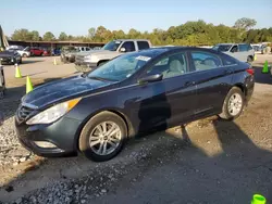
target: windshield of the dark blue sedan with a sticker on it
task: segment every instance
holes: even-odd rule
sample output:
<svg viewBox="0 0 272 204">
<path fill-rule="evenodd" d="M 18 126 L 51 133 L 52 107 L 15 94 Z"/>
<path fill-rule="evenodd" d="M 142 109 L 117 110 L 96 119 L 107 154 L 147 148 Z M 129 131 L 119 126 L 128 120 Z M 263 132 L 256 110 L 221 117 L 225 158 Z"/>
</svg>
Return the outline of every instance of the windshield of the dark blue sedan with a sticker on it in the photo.
<svg viewBox="0 0 272 204">
<path fill-rule="evenodd" d="M 118 56 L 88 74 L 88 78 L 122 81 L 140 69 L 160 52 L 136 52 Z"/>
</svg>

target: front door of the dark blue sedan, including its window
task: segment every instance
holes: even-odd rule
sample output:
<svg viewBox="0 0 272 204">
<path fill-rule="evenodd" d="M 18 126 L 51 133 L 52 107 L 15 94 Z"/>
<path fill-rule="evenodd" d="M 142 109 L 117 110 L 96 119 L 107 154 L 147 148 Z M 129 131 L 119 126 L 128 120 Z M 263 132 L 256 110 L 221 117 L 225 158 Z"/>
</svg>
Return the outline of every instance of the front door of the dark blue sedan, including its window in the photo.
<svg viewBox="0 0 272 204">
<path fill-rule="evenodd" d="M 185 53 L 168 55 L 139 77 L 162 74 L 162 80 L 137 85 L 128 90 L 137 95 L 129 110 L 134 117 L 138 116 L 139 131 L 158 126 L 169 128 L 193 117 L 197 102 L 196 86 L 187 71 Z"/>
</svg>

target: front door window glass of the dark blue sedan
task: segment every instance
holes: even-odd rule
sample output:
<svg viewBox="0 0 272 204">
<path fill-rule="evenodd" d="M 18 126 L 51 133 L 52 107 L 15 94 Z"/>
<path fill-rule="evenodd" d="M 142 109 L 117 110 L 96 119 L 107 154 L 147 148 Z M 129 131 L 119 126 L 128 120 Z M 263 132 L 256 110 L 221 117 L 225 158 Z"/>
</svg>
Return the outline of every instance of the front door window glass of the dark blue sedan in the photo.
<svg viewBox="0 0 272 204">
<path fill-rule="evenodd" d="M 187 62 L 184 53 L 162 58 L 147 71 L 147 75 L 162 74 L 163 78 L 183 75 L 187 72 Z"/>
</svg>

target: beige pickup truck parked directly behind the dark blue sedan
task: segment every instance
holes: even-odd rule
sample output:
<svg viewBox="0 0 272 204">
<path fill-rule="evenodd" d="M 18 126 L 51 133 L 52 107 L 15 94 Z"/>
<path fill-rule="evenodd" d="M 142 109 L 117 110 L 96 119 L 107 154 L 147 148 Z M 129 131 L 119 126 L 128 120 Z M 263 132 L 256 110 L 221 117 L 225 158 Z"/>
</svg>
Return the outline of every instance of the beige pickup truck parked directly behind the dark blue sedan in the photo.
<svg viewBox="0 0 272 204">
<path fill-rule="evenodd" d="M 151 43 L 149 40 L 113 40 L 107 43 L 101 50 L 76 54 L 75 68 L 79 72 L 89 72 L 121 54 L 149 49 L 150 47 Z"/>
</svg>

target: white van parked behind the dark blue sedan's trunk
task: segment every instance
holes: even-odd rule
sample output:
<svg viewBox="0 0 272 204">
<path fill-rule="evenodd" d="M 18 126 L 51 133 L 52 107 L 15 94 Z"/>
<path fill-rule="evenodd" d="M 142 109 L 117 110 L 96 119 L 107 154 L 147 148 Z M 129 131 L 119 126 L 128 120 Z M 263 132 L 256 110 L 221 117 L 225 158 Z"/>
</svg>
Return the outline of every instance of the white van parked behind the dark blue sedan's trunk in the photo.
<svg viewBox="0 0 272 204">
<path fill-rule="evenodd" d="M 255 50 L 248 43 L 219 43 L 212 49 L 224 52 L 242 62 L 251 63 L 255 60 Z"/>
</svg>

